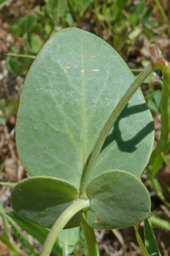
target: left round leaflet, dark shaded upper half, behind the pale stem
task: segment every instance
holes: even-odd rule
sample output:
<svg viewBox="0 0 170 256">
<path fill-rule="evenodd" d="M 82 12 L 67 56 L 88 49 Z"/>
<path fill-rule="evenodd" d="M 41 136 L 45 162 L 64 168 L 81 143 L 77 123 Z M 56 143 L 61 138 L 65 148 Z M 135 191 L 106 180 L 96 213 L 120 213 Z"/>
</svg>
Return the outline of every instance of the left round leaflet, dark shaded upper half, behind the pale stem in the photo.
<svg viewBox="0 0 170 256">
<path fill-rule="evenodd" d="M 15 186 L 11 200 L 18 215 L 51 228 L 77 197 L 77 188 L 67 181 L 54 177 L 30 177 Z M 80 225 L 81 215 L 75 215 L 71 221 L 70 228 Z"/>
</svg>

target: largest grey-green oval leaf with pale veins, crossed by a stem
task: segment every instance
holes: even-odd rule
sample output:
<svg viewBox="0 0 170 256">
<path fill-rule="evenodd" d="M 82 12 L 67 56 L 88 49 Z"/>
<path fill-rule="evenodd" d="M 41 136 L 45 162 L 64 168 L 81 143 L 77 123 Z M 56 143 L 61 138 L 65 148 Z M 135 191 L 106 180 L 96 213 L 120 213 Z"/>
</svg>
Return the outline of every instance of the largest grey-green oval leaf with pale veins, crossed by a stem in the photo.
<svg viewBox="0 0 170 256">
<path fill-rule="evenodd" d="M 78 188 L 103 124 L 133 80 L 118 53 L 91 33 L 68 28 L 49 39 L 27 74 L 17 115 L 17 149 L 27 172 Z M 106 169 L 139 175 L 153 148 L 151 120 L 138 90 L 93 176 Z"/>
</svg>

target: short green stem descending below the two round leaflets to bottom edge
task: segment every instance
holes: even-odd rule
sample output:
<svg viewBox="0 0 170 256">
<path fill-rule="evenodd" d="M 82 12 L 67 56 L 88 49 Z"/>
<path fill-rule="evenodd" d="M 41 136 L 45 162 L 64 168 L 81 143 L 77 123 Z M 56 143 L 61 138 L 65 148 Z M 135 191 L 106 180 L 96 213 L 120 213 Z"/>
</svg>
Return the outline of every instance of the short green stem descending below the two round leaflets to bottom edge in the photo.
<svg viewBox="0 0 170 256">
<path fill-rule="evenodd" d="M 83 225 L 83 230 L 85 232 L 85 239 L 88 244 L 89 256 L 100 256 L 98 252 L 98 244 L 95 239 L 95 232 L 93 228 L 90 228 L 88 223 L 85 223 L 85 225 Z"/>
</svg>

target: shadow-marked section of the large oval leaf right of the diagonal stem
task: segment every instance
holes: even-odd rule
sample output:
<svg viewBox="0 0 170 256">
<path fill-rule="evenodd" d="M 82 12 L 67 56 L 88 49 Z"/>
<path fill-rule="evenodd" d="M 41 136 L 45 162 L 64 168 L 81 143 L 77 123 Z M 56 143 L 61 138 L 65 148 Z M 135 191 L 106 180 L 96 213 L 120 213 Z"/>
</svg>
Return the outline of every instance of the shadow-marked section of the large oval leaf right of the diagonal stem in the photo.
<svg viewBox="0 0 170 256">
<path fill-rule="evenodd" d="M 92 177 L 109 169 L 122 169 L 140 176 L 150 158 L 153 129 L 145 103 L 134 106 L 130 102 L 107 137 Z"/>
</svg>

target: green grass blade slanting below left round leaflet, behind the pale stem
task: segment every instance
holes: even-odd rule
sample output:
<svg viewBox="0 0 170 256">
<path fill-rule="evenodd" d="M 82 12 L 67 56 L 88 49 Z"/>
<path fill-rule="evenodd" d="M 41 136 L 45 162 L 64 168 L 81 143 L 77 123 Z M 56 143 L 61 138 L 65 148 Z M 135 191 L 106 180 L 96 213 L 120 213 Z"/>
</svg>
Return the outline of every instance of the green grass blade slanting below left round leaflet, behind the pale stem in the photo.
<svg viewBox="0 0 170 256">
<path fill-rule="evenodd" d="M 14 211 L 7 211 L 5 212 L 5 215 L 12 217 L 14 222 L 17 223 L 17 225 L 20 225 L 22 230 L 29 233 L 31 236 L 37 239 L 41 244 L 44 244 L 49 232 L 46 228 L 43 228 L 40 225 L 37 225 L 28 220 L 25 220 L 24 218 L 17 215 L 17 213 L 15 213 Z M 61 248 L 59 247 L 58 241 L 56 241 L 56 243 L 54 244 L 53 252 L 56 253 L 57 255 L 61 255 Z"/>
</svg>

